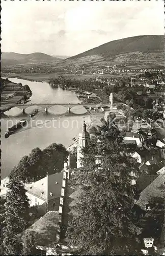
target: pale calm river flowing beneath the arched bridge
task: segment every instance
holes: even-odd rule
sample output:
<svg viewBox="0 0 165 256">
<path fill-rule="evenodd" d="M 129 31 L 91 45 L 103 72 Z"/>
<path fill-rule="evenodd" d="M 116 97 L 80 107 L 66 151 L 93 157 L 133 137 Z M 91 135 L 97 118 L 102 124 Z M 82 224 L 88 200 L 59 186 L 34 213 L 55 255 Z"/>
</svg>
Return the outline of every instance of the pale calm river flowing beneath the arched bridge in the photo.
<svg viewBox="0 0 165 256">
<path fill-rule="evenodd" d="M 32 82 L 23 79 L 9 78 L 10 81 L 22 85 L 28 84 L 33 95 L 30 103 L 80 103 L 76 94 L 72 91 L 61 88 L 52 88 L 46 82 Z M 39 112 L 31 119 L 29 113 L 34 109 Z M 17 165 L 22 156 L 31 153 L 35 147 L 41 150 L 51 143 L 62 143 L 69 146 L 73 138 L 78 138 L 81 125 L 85 116 L 87 127 L 90 125 L 90 116 L 83 106 L 74 106 L 71 113 L 66 113 L 64 106 L 52 106 L 48 113 L 44 112 L 40 106 L 29 106 L 25 114 L 18 108 L 12 108 L 5 112 L 5 117 L 1 119 L 1 178 L 9 175 L 13 166 Z M 17 131 L 9 138 L 5 139 L 4 133 L 7 127 L 15 124 L 21 118 L 27 119 L 28 126 Z"/>
</svg>

